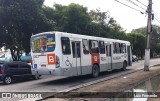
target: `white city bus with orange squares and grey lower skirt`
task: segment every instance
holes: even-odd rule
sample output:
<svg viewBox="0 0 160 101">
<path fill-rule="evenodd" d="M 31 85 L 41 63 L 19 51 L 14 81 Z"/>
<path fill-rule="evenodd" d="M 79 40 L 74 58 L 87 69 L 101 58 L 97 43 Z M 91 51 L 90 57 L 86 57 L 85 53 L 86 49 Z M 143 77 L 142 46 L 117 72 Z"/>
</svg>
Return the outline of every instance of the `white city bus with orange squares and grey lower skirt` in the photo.
<svg viewBox="0 0 160 101">
<path fill-rule="evenodd" d="M 40 75 L 79 76 L 132 64 L 128 41 L 66 32 L 43 32 L 31 37 L 33 68 Z"/>
</svg>

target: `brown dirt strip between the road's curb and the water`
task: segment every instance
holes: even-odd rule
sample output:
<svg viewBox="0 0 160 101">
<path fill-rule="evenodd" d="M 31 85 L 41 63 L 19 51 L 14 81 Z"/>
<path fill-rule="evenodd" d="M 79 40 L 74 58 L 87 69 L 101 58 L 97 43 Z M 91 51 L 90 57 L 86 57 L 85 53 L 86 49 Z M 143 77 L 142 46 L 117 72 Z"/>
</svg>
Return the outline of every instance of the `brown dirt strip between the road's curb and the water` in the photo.
<svg viewBox="0 0 160 101">
<path fill-rule="evenodd" d="M 160 74 L 160 66 L 154 66 L 150 68 L 150 71 L 137 71 L 131 74 L 127 74 L 124 76 L 120 76 L 111 80 L 103 81 L 97 84 L 93 84 L 90 86 L 86 86 L 83 88 L 79 88 L 73 90 L 72 92 L 123 92 L 125 90 L 131 89 L 133 86 L 137 85 L 138 83 L 145 81 L 155 75 Z M 68 96 L 66 94 L 66 96 Z M 115 101 L 115 100 L 104 100 L 97 98 L 97 99 L 89 99 L 86 100 L 85 98 L 48 98 L 45 101 Z M 116 101 L 123 101 L 123 100 L 116 100 Z M 132 100 L 127 100 L 132 101 Z M 160 98 L 149 98 L 147 101 L 160 101 Z"/>
</svg>

